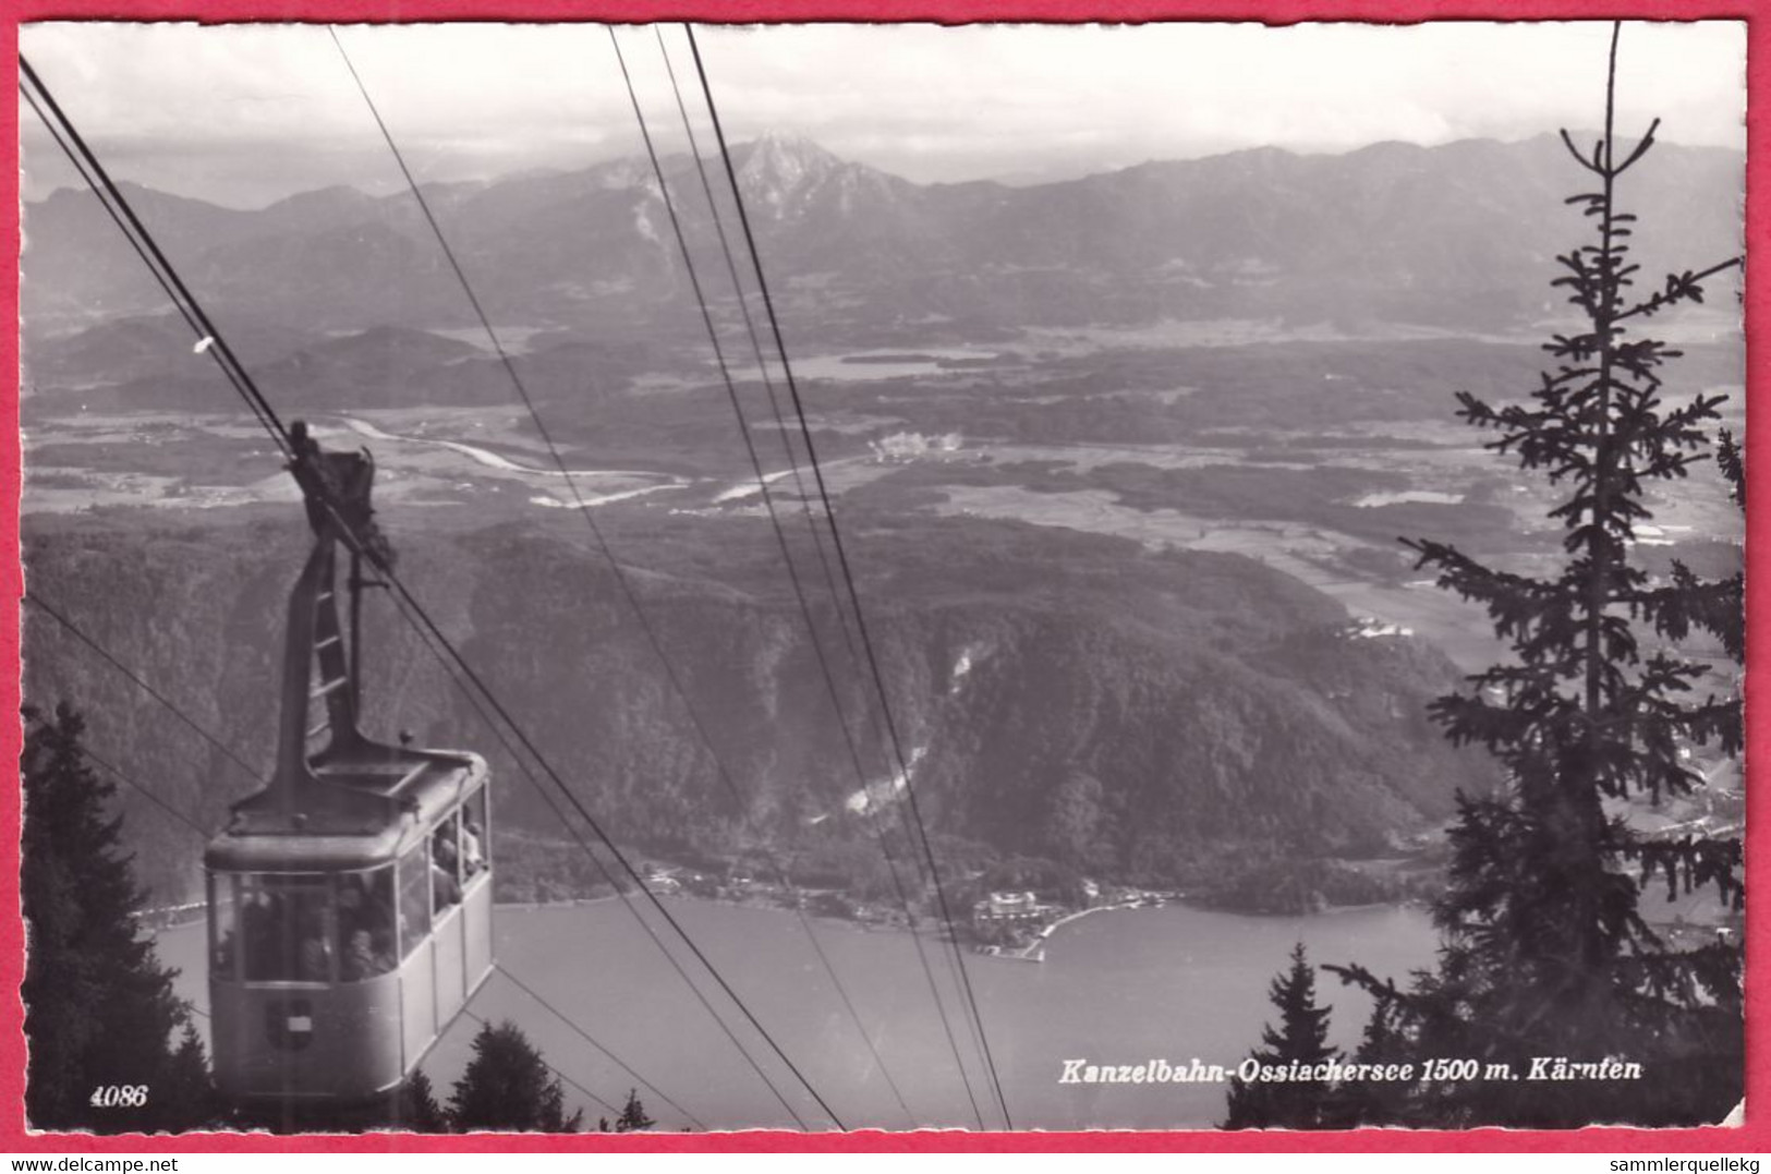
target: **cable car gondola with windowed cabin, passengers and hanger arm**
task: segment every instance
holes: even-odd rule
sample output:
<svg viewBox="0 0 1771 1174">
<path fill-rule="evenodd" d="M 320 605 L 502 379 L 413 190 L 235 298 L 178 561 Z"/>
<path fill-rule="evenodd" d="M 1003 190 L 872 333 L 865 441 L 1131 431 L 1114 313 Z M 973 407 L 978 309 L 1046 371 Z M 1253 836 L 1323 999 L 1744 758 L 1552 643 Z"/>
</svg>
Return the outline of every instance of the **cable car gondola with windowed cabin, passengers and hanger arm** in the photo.
<svg viewBox="0 0 1771 1174">
<path fill-rule="evenodd" d="M 299 423 L 290 441 L 315 538 L 289 595 L 276 770 L 204 855 L 216 1084 L 285 1108 L 393 1093 L 492 970 L 485 760 L 358 730 L 361 591 L 379 586 L 363 563 L 391 563 L 374 464 Z"/>
</svg>

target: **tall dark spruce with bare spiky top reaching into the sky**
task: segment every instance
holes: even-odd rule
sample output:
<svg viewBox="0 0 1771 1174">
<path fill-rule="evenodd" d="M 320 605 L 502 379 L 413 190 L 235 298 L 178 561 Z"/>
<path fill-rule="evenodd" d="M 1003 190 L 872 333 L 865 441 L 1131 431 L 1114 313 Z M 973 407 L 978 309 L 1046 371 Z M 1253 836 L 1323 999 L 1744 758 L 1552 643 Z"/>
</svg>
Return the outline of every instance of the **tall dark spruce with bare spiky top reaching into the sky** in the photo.
<svg viewBox="0 0 1771 1174">
<path fill-rule="evenodd" d="M 1481 604 L 1512 659 L 1440 698 L 1435 719 L 1509 772 L 1493 797 L 1461 797 L 1452 829 L 1443 935 L 1435 972 L 1401 990 L 1362 967 L 1342 976 L 1378 999 L 1374 1052 L 1394 1059 L 1468 1057 L 1518 1078 L 1426 1080 L 1365 1121 L 1578 1126 L 1596 1121 L 1695 1124 L 1721 1119 L 1741 1091 L 1741 953 L 1714 942 L 1679 949 L 1643 917 L 1643 892 L 1714 887 L 1741 907 L 1741 843 L 1647 839 L 1629 802 L 1691 793 L 1688 751 L 1741 747 L 1737 696 L 1693 698 L 1705 666 L 1674 643 L 1693 627 L 1739 648 L 1739 581 L 1700 581 L 1675 567 L 1659 581 L 1631 558 L 1651 492 L 1704 460 L 1723 397 L 1670 398 L 1661 368 L 1677 351 L 1633 336 L 1645 319 L 1702 301 L 1702 282 L 1739 264 L 1675 273 L 1633 292 L 1635 216 L 1619 181 L 1654 147 L 1656 120 L 1633 147 L 1613 126 L 1617 28 L 1605 131 L 1582 151 L 1580 207 L 1592 241 L 1558 257 L 1553 282 L 1583 324 L 1544 345 L 1551 370 L 1525 402 L 1459 393 L 1459 416 L 1496 436 L 1489 448 L 1564 489 L 1550 517 L 1564 528 L 1557 574 L 1482 565 L 1452 545 L 1410 545 L 1443 588 Z M 1723 469 L 1728 469 L 1723 448 Z M 1737 462 L 1734 466 L 1737 469 Z M 1732 480 L 1732 478 L 1730 478 Z M 1606 804 L 1612 804 L 1610 809 Z M 1656 880 L 1658 878 L 1658 880 Z M 1642 1078 L 1530 1082 L 1534 1057 L 1642 1064 Z"/>
</svg>

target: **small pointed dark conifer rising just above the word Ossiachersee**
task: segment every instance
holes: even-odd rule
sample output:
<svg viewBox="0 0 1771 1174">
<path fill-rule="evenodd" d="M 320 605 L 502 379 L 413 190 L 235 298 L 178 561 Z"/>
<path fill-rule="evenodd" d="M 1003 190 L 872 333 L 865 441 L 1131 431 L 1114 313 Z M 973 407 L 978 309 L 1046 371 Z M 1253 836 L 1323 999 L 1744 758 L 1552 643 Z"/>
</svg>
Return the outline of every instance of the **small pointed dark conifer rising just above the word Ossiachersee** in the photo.
<svg viewBox="0 0 1771 1174">
<path fill-rule="evenodd" d="M 1314 1066 L 1339 1055 L 1328 1047 L 1328 1008 L 1316 1004 L 1316 969 L 1303 954 L 1303 942 L 1291 951 L 1291 969 L 1275 976 L 1268 997 L 1279 1008 L 1279 1027 L 1261 1029 L 1261 1043 L 1250 1055 L 1263 1066 L 1289 1068 L 1293 1062 Z M 1226 1130 L 1319 1130 L 1332 1124 L 1332 1085 L 1328 1082 L 1245 1082 L 1231 1077 Z"/>
</svg>

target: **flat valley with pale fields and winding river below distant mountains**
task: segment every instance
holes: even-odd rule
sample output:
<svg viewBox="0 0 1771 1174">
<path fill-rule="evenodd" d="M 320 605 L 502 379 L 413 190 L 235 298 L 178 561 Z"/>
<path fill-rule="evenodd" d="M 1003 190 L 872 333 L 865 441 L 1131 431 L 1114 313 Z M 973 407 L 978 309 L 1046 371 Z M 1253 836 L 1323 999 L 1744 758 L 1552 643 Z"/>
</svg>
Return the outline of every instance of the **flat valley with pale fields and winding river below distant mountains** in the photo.
<svg viewBox="0 0 1771 1174">
<path fill-rule="evenodd" d="M 1318 338 L 1252 322 L 1142 331 L 1027 331 L 1015 344 L 808 354 L 797 361 L 825 482 L 870 524 L 1017 519 L 1146 545 L 1243 554 L 1420 634 L 1465 668 L 1495 652 L 1488 625 L 1411 570 L 1404 537 L 1452 540 L 1520 572 L 1558 551 L 1541 478 L 1482 448 L 1452 391 L 1530 386 L 1521 338 Z M 1328 331 L 1332 335 L 1332 331 Z M 1695 347 L 1693 386 L 1728 390 L 1727 340 Z M 785 390 L 756 372 L 739 395 L 770 496 L 797 510 L 809 476 Z M 615 402 L 544 405 L 577 498 L 653 519 L 753 519 L 756 476 L 712 372 L 636 375 Z M 779 384 L 779 372 L 774 372 Z M 517 407 L 306 413 L 329 446 L 365 444 L 377 505 L 402 526 L 561 514 L 577 498 Z M 225 400 L 220 398 L 218 407 Z M 1739 391 L 1732 421 L 1741 427 Z M 685 423 L 687 421 L 687 423 Z M 25 400 L 25 512 L 292 505 L 294 487 L 250 420 L 175 411 L 81 411 L 69 393 Z M 1654 501 L 1643 552 L 1725 563 L 1741 521 L 1698 473 Z M 221 521 L 221 515 L 216 515 Z M 623 552 L 625 554 L 625 552 Z M 645 561 L 643 552 L 630 554 Z"/>
</svg>

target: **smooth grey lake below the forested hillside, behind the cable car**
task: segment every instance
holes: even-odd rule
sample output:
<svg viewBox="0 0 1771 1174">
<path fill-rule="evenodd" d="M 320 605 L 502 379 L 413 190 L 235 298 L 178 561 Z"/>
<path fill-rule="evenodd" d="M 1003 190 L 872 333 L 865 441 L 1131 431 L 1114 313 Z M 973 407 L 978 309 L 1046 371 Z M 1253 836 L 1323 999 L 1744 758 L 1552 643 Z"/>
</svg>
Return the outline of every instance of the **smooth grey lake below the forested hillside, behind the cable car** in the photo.
<svg viewBox="0 0 1771 1174">
<path fill-rule="evenodd" d="M 669 900 L 668 908 L 845 1124 L 910 1124 L 793 914 L 691 900 Z M 815 926 L 916 1123 L 976 1128 L 912 937 L 843 921 L 820 919 Z M 507 970 L 710 1128 L 793 1126 L 620 903 L 501 907 L 496 937 Z M 1222 1084 L 1061 1085 L 1063 1061 L 1185 1064 L 1199 1057 L 1234 1068 L 1273 1018 L 1266 988 L 1298 940 L 1312 962 L 1360 962 L 1399 981 L 1431 965 L 1438 942 L 1427 914 L 1417 908 L 1245 917 L 1171 905 L 1103 910 L 1073 921 L 1052 935 L 1047 960 L 1038 965 L 967 954 L 1015 1126 L 1215 1124 L 1224 1114 Z M 923 946 L 947 995 L 985 1123 L 1001 1128 L 978 1048 L 951 997 L 951 953 L 928 937 Z M 168 930 L 159 937 L 159 953 L 184 970 L 179 993 L 207 1009 L 200 926 Z M 804 1089 L 692 967 L 692 960 L 684 962 L 795 1110 L 818 1128 L 824 1117 Z M 1355 1045 L 1369 1000 L 1332 976 L 1318 977 L 1318 997 L 1334 1004 L 1335 1043 Z M 549 1064 L 606 1101 L 620 1105 L 634 1084 L 499 974 L 480 990 L 471 1011 L 485 1020 L 515 1020 Z M 427 1057 L 423 1066 L 439 1100 L 460 1075 L 475 1031 L 478 1023 L 462 1016 Z M 639 1094 L 661 1126 L 687 1124 L 659 1096 L 645 1087 Z M 586 1105 L 592 1124 L 606 1114 L 572 1087 L 567 1103 Z"/>
</svg>

